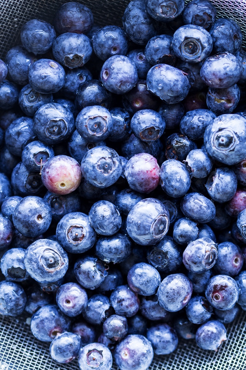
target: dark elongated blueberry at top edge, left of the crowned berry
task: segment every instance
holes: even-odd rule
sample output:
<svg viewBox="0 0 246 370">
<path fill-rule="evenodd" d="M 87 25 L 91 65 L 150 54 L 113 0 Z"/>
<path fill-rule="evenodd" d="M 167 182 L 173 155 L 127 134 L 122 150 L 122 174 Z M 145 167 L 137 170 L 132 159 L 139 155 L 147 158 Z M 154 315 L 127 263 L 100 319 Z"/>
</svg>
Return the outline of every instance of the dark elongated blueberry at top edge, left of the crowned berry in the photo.
<svg viewBox="0 0 246 370">
<path fill-rule="evenodd" d="M 128 4 L 122 22 L 125 33 L 135 44 L 145 45 L 150 37 L 157 34 L 154 21 L 141 0 L 134 0 Z"/>
</svg>

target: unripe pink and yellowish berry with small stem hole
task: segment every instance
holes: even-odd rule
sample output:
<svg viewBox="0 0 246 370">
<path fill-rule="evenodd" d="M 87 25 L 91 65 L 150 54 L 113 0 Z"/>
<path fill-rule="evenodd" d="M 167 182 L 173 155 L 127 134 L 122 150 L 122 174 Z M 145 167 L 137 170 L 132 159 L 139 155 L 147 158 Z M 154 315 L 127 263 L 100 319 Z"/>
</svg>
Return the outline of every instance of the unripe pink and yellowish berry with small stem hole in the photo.
<svg viewBox="0 0 246 370">
<path fill-rule="evenodd" d="M 75 191 L 82 179 L 79 163 L 67 155 L 56 155 L 42 168 L 42 183 L 52 193 L 58 195 Z"/>
</svg>

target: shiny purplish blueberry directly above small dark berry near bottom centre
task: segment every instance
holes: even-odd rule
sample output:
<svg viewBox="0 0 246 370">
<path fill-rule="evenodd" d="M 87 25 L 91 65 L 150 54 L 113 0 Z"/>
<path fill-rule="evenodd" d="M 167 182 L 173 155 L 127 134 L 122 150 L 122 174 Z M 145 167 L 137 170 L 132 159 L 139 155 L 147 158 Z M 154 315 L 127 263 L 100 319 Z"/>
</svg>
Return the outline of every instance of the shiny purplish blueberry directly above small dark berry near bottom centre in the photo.
<svg viewBox="0 0 246 370">
<path fill-rule="evenodd" d="M 128 285 L 120 285 L 111 293 L 110 303 L 117 315 L 132 317 L 138 312 L 140 302 Z"/>
</svg>

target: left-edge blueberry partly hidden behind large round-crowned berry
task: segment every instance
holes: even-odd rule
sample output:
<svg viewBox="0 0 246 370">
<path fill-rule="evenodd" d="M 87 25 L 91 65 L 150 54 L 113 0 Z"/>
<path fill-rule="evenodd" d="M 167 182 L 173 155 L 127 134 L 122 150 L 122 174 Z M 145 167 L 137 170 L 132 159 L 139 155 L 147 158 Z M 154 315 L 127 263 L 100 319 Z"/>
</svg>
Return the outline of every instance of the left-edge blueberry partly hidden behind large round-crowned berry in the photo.
<svg viewBox="0 0 246 370">
<path fill-rule="evenodd" d="M 1 258 L 1 272 L 6 280 L 22 282 L 28 279 L 29 275 L 24 265 L 25 249 L 11 248 Z"/>
</svg>

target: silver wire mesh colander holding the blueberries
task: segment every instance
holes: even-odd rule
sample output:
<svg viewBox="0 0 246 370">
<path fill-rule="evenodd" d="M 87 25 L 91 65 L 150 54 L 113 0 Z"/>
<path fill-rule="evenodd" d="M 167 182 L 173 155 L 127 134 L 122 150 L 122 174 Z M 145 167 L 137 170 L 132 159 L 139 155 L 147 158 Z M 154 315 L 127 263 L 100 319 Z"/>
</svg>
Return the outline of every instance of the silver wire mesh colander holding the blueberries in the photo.
<svg viewBox="0 0 246 370">
<path fill-rule="evenodd" d="M 69 0 L 67 0 L 69 1 Z M 30 19 L 51 21 L 67 1 L 0 0 L 0 58 L 20 43 L 21 26 Z M 79 1 L 93 11 L 95 23 L 121 26 L 128 0 Z M 188 2 L 188 1 L 187 1 Z M 243 31 L 246 48 L 246 0 L 212 0 L 218 17 L 234 19 Z M 180 340 L 177 350 L 155 356 L 149 370 L 246 370 L 246 312 L 227 327 L 228 340 L 218 352 L 199 349 L 194 340 Z M 30 331 L 30 318 L 0 316 L 0 370 L 78 370 L 77 361 L 57 364 L 49 357 L 49 343 L 39 342 Z M 113 365 L 113 369 L 117 369 Z"/>
</svg>

